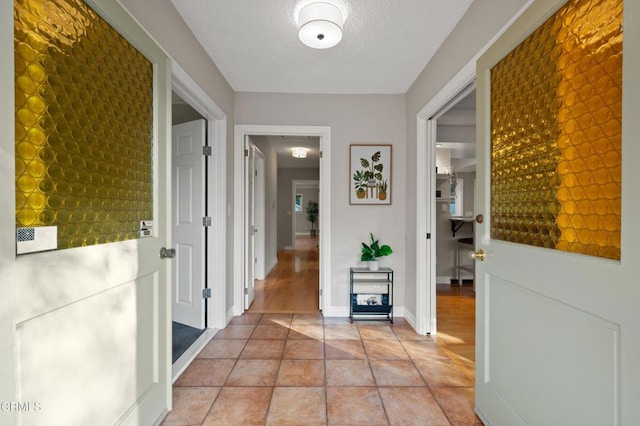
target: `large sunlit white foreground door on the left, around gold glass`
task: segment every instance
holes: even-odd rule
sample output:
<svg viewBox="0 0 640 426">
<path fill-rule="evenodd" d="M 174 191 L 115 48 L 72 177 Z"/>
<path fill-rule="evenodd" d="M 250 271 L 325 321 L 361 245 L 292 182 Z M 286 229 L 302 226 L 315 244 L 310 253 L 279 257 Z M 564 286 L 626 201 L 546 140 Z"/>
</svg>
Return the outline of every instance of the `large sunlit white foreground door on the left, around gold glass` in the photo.
<svg viewBox="0 0 640 426">
<path fill-rule="evenodd" d="M 18 400 L 40 407 L 19 413 L 21 425 L 151 425 L 171 408 L 171 260 L 159 255 L 171 247 L 170 60 L 118 2 L 91 4 L 153 65 L 153 228 L 146 238 L 6 257 L 16 289 L 16 345 L 6 350 L 14 351 Z M 0 137 L 0 151 L 13 156 L 13 139 Z M 8 179 L 13 161 L 3 163 Z M 118 193 L 115 181 L 108 185 Z M 13 203 L 2 210 L 13 217 Z M 2 222 L 13 240 L 13 220 Z"/>
</svg>

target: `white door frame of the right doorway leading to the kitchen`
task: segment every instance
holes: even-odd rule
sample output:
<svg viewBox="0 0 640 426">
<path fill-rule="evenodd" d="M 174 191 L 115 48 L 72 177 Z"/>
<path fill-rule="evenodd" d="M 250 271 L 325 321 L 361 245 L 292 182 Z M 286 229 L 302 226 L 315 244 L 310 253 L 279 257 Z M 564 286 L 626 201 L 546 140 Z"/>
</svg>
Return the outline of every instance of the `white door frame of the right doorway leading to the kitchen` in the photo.
<svg viewBox="0 0 640 426">
<path fill-rule="evenodd" d="M 436 250 L 435 239 L 435 146 L 436 123 L 431 120 L 476 77 L 476 61 L 533 2 L 529 0 L 489 42 L 416 114 L 417 120 L 417 206 L 416 206 L 416 324 L 419 334 L 436 332 Z M 424 165 L 427 167 L 424 167 Z M 427 194 L 427 196 L 425 196 Z M 421 220 L 419 218 L 427 218 Z M 427 259 L 424 262 L 423 259 Z"/>
</svg>

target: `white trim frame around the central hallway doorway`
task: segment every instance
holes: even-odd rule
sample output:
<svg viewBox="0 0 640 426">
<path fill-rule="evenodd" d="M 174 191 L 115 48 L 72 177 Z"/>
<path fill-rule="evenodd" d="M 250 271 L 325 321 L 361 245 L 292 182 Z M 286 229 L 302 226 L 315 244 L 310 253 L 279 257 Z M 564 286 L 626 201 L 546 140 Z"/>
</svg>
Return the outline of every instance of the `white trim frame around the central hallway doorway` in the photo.
<svg viewBox="0 0 640 426">
<path fill-rule="evenodd" d="M 329 127 L 320 127 L 320 126 L 270 126 L 270 125 L 237 125 L 235 127 L 235 141 L 234 141 L 234 161 L 235 161 L 235 174 L 234 174 L 234 182 L 235 185 L 239 188 L 245 188 L 246 181 L 246 173 L 244 173 L 244 144 L 245 138 L 251 136 L 253 139 L 259 137 L 280 137 L 280 138 L 317 138 L 319 143 L 318 155 L 322 157 L 322 160 L 319 161 L 319 186 L 320 188 L 329 188 L 331 183 L 330 176 L 330 148 L 331 148 L 331 130 Z M 266 157 L 266 161 L 269 161 L 270 154 L 264 153 Z M 275 152 L 274 152 L 275 155 Z M 289 152 L 289 157 L 291 153 Z M 269 177 L 266 177 L 267 182 L 269 182 Z M 268 184 L 269 185 L 269 184 Z M 282 192 L 282 193 L 281 193 Z M 278 196 L 284 195 L 287 199 L 286 203 L 289 203 L 289 207 L 285 208 L 285 213 L 293 214 L 293 201 L 290 200 L 290 196 L 292 194 L 292 189 L 289 187 L 288 190 L 281 191 L 278 188 Z M 268 196 L 267 196 L 268 198 Z M 246 197 L 237 197 L 235 199 L 234 209 L 237 212 L 246 212 Z M 267 211 L 269 209 L 276 208 L 276 203 L 274 201 L 267 201 Z M 279 205 L 279 203 L 278 203 Z M 328 288 L 324 285 L 324 281 L 327 277 L 330 276 L 330 265 L 328 259 L 330 258 L 330 220 L 328 212 L 330 211 L 331 199 L 329 197 L 328 191 L 320 191 L 320 199 L 319 199 L 319 229 L 322 229 L 323 232 L 319 234 L 319 242 L 318 245 L 323 247 L 323 250 L 319 254 L 319 271 L 318 271 L 318 306 L 321 310 L 323 310 L 323 300 L 327 300 L 329 297 Z M 279 209 L 280 210 L 280 209 Z M 326 212 L 326 214 L 323 214 Z M 248 308 L 246 306 L 246 301 L 244 298 L 246 282 L 247 282 L 247 273 L 246 273 L 246 265 L 247 265 L 247 257 L 246 257 L 246 246 L 247 246 L 247 228 L 244 226 L 245 221 L 236 221 L 234 225 L 234 240 L 239 241 L 240 244 L 237 244 L 234 248 L 234 274 L 237 277 L 241 277 L 241 279 L 236 280 L 236 285 L 234 289 L 234 315 L 241 315 Z M 269 223 L 269 220 L 267 220 Z M 280 233 L 281 231 L 286 231 L 287 233 L 292 232 L 291 221 L 287 222 L 286 225 L 281 225 L 280 223 L 275 224 L 275 230 Z M 267 225 L 269 228 L 269 225 Z M 276 237 L 277 240 L 280 240 L 280 237 Z M 268 238 L 267 238 L 268 240 Z M 289 237 L 288 241 L 291 241 L 291 237 Z M 279 243 L 278 243 L 279 244 Z M 266 249 L 268 251 L 268 249 Z M 250 261 L 250 260 L 249 260 Z M 269 270 L 270 263 L 267 258 L 267 270 Z"/>
</svg>

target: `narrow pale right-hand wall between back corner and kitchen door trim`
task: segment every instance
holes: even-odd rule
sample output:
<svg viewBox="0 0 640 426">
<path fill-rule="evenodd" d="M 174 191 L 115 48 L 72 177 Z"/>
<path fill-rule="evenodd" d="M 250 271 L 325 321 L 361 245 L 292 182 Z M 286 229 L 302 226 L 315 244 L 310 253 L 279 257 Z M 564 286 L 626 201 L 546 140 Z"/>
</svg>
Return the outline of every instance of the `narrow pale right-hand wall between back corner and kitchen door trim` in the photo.
<svg viewBox="0 0 640 426">
<path fill-rule="evenodd" d="M 480 51 L 489 40 L 511 19 L 527 0 L 476 0 L 458 22 L 425 69 L 406 93 L 406 135 L 408 159 L 407 176 L 415 176 L 417 167 L 418 112 L 447 84 L 460 69 Z M 466 184 L 466 182 L 465 182 Z M 405 214 L 406 240 L 406 309 L 416 311 L 416 182 L 407 179 L 407 205 Z M 421 260 L 422 261 L 422 260 Z"/>
</svg>

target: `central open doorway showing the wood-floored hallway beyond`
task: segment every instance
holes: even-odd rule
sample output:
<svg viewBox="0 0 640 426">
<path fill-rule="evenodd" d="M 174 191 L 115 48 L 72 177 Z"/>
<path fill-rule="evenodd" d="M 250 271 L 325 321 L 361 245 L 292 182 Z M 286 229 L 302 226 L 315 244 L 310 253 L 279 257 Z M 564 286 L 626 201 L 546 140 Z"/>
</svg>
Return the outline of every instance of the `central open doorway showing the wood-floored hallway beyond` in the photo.
<svg viewBox="0 0 640 426">
<path fill-rule="evenodd" d="M 245 262 L 245 309 L 317 313 L 319 218 L 310 222 L 307 211 L 310 204 L 319 206 L 319 137 L 249 135 L 245 143 L 245 253 L 254 259 Z M 262 227 L 252 224 L 259 217 Z"/>
</svg>

